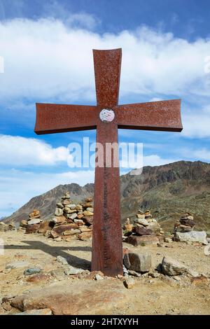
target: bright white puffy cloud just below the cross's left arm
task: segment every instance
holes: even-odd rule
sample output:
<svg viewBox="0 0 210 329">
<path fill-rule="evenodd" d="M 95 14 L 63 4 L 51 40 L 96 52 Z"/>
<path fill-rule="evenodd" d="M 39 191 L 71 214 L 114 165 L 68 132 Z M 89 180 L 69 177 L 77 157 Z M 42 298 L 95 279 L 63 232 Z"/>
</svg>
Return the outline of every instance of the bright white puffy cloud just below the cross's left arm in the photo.
<svg viewBox="0 0 210 329">
<path fill-rule="evenodd" d="M 0 135 L 0 164 L 55 165 L 57 162 L 67 162 L 68 148 L 60 146 L 52 148 L 44 141 L 19 136 Z"/>
</svg>

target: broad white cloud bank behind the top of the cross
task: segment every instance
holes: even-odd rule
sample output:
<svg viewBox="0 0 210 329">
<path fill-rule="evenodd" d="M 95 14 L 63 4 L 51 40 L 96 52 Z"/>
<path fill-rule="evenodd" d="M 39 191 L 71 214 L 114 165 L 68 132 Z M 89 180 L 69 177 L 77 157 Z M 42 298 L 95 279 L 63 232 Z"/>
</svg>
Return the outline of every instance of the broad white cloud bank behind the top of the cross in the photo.
<svg viewBox="0 0 210 329">
<path fill-rule="evenodd" d="M 77 16 L 76 16 L 77 15 Z M 73 14 L 69 20 L 82 18 Z M 5 59 L 1 99 L 34 97 L 93 101 L 92 48 L 123 48 L 121 95 L 208 94 L 204 59 L 210 40 L 194 42 L 146 27 L 99 35 L 59 19 L 15 19 L 0 24 Z"/>
</svg>

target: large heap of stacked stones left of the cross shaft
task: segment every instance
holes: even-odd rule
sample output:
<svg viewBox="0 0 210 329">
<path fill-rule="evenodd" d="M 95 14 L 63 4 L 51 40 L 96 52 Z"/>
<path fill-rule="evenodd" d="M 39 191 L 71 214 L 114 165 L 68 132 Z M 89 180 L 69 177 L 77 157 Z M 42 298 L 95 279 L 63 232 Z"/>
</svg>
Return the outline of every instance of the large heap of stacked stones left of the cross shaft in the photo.
<svg viewBox="0 0 210 329">
<path fill-rule="evenodd" d="M 38 232 L 55 241 L 87 240 L 92 237 L 93 211 L 92 198 L 75 204 L 66 192 L 56 203 L 55 216 L 42 221 L 39 211 L 34 209 L 29 214 L 29 220 L 22 221 L 20 226 L 25 228 L 27 234 Z"/>
</svg>

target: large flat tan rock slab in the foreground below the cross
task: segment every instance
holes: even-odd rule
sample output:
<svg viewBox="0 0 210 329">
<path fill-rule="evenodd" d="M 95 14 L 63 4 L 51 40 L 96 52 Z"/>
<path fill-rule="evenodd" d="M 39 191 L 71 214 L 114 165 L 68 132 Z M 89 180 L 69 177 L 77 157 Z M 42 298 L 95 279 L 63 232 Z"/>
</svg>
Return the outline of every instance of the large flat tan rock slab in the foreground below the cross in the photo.
<svg viewBox="0 0 210 329">
<path fill-rule="evenodd" d="M 59 281 L 36 288 L 11 300 L 13 307 L 21 311 L 51 309 L 54 315 L 112 314 L 129 302 L 122 282 L 116 280 Z M 106 302 L 104 302 L 106 301 Z"/>
</svg>

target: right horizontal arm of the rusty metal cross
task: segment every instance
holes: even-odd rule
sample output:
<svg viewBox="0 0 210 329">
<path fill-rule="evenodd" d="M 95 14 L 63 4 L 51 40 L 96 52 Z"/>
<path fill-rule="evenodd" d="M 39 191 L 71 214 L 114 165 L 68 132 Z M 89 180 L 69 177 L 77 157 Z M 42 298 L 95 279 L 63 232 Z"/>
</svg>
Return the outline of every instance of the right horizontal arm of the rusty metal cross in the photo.
<svg viewBox="0 0 210 329">
<path fill-rule="evenodd" d="M 181 132 L 181 99 L 115 106 L 118 128 Z"/>
</svg>

